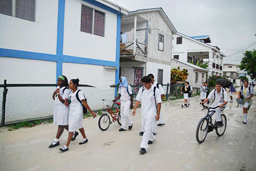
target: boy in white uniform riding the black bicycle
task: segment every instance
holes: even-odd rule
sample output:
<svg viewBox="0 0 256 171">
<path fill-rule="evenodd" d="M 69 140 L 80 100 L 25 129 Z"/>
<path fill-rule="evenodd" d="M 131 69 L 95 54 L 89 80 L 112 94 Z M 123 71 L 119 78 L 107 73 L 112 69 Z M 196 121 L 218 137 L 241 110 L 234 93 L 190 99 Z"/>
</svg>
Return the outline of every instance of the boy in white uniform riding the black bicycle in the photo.
<svg viewBox="0 0 256 171">
<path fill-rule="evenodd" d="M 228 93 L 224 88 L 221 87 L 221 82 L 217 81 L 215 89 L 212 90 L 204 103 L 207 103 L 209 100 L 214 99 L 212 101 L 211 107 L 216 107 L 219 105 L 219 108 L 215 109 L 216 111 L 216 124 L 217 125 L 223 125 L 222 119 L 221 119 L 221 111 L 223 111 L 226 108 L 226 104 L 228 103 Z"/>
</svg>

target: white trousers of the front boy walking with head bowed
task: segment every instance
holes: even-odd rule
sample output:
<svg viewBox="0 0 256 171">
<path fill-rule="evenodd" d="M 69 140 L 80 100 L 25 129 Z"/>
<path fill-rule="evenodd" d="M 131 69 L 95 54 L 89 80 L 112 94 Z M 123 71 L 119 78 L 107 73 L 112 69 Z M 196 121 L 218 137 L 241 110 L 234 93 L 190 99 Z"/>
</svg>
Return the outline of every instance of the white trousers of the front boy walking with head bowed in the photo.
<svg viewBox="0 0 256 171">
<path fill-rule="evenodd" d="M 145 150 L 147 151 L 147 149 L 149 148 L 149 145 L 148 145 L 149 140 L 156 141 L 156 137 L 154 137 L 154 134 L 153 134 L 153 125 L 154 123 L 156 123 L 156 117 L 150 117 L 144 120 L 145 120 L 145 131 L 143 134 L 143 141 L 141 141 L 140 143 L 140 148 L 145 148 Z"/>
</svg>

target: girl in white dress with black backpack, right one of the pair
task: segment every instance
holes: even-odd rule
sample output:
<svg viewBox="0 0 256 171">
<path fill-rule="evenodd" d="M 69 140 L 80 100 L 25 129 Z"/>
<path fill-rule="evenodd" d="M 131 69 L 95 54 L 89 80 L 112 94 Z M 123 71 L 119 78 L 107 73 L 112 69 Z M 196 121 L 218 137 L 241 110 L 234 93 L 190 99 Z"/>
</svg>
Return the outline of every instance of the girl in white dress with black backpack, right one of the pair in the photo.
<svg viewBox="0 0 256 171">
<path fill-rule="evenodd" d="M 68 150 L 68 145 L 71 142 L 74 131 L 77 129 L 81 132 L 83 137 L 79 145 L 87 143 L 88 141 L 88 139 L 86 139 L 84 128 L 82 127 L 82 121 L 83 121 L 82 105 L 84 105 L 84 107 L 91 112 L 91 114 L 93 115 L 93 118 L 96 117 L 96 114 L 93 113 L 89 105 L 86 103 L 84 93 L 81 90 L 78 90 L 77 86 L 79 86 L 79 79 L 71 79 L 71 81 L 69 82 L 69 88 L 71 89 L 71 92 L 68 95 L 68 102 L 65 102 L 65 105 L 69 104 L 68 140 L 66 141 L 66 145 L 64 145 L 62 148 L 59 149 L 62 152 L 66 152 Z M 77 99 L 77 97 L 80 99 L 81 103 Z"/>
</svg>

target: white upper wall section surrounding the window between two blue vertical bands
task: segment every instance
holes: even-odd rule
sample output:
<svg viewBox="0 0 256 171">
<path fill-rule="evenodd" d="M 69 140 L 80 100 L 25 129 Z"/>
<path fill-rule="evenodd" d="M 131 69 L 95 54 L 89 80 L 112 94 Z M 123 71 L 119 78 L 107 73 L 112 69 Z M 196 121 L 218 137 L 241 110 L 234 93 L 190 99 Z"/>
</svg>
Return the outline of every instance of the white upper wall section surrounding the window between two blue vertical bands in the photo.
<svg viewBox="0 0 256 171">
<path fill-rule="evenodd" d="M 82 4 L 105 13 L 104 37 L 80 31 Z M 66 0 L 63 53 L 69 56 L 116 61 L 117 15 L 82 1 Z M 114 46 L 113 46 L 114 45 Z"/>
</svg>

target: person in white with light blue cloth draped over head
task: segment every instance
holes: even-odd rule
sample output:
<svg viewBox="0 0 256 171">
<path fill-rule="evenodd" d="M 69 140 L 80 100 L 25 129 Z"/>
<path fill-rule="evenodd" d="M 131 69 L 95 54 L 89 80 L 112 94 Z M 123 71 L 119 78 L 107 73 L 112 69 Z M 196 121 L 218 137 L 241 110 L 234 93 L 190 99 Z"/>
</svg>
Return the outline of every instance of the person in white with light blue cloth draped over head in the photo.
<svg viewBox="0 0 256 171">
<path fill-rule="evenodd" d="M 125 77 L 120 77 L 119 80 L 119 89 L 118 89 L 118 97 L 114 99 L 114 101 L 117 101 L 118 99 L 121 100 L 121 122 L 122 127 L 119 129 L 119 131 L 126 131 L 127 125 L 129 126 L 128 129 L 132 129 L 132 121 L 129 117 L 129 109 L 133 108 L 133 98 L 134 95 L 131 90 L 131 86 L 128 84 L 128 81 Z"/>
</svg>

